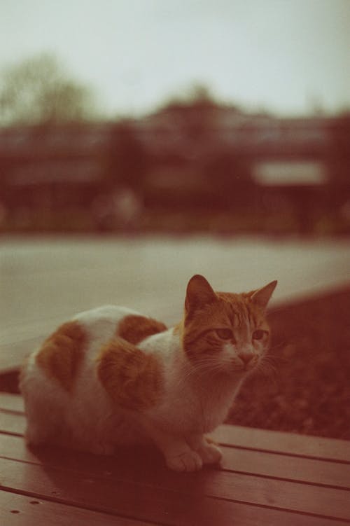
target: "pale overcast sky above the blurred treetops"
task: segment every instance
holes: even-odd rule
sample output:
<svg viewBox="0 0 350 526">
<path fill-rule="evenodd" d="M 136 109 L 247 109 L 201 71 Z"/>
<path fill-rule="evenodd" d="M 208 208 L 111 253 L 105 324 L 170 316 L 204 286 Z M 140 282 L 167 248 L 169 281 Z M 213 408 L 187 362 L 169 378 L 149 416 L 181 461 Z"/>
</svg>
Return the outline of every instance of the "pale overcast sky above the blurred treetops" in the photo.
<svg viewBox="0 0 350 526">
<path fill-rule="evenodd" d="M 0 0 L 0 68 L 45 51 L 111 116 L 195 83 L 249 110 L 350 107 L 350 0 Z"/>
</svg>

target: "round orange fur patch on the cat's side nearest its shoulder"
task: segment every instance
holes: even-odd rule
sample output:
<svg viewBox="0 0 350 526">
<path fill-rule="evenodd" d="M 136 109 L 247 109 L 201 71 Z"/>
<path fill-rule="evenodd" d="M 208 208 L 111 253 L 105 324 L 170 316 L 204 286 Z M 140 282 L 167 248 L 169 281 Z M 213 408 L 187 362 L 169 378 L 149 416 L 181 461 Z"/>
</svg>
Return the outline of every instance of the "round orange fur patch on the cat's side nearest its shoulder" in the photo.
<svg viewBox="0 0 350 526">
<path fill-rule="evenodd" d="M 162 372 L 157 359 L 122 338 L 113 338 L 97 358 L 100 382 L 118 406 L 141 411 L 155 404 L 162 393 Z"/>
</svg>

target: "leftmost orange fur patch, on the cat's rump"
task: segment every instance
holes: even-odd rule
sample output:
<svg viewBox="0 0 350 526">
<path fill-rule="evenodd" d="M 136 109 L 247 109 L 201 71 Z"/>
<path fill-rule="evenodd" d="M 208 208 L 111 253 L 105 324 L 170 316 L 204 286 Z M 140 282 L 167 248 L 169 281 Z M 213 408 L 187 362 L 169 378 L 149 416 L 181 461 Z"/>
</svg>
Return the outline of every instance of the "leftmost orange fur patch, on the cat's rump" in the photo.
<svg viewBox="0 0 350 526">
<path fill-rule="evenodd" d="M 78 321 L 68 321 L 43 342 L 36 363 L 49 378 L 55 378 L 64 389 L 71 391 L 86 341 L 87 335 Z"/>
</svg>

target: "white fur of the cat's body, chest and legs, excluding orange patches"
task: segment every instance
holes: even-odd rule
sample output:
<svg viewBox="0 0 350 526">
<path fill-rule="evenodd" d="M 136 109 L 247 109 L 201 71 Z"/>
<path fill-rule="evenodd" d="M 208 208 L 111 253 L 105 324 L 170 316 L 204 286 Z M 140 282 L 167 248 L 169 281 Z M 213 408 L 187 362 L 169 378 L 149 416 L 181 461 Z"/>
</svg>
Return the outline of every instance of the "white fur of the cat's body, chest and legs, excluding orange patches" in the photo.
<svg viewBox="0 0 350 526">
<path fill-rule="evenodd" d="M 89 344 L 73 394 L 50 380 L 37 366 L 36 352 L 31 354 L 21 380 L 27 441 L 49 441 L 110 454 L 118 444 L 151 439 L 171 469 L 194 471 L 204 462 L 218 462 L 221 452 L 205 441 L 204 434 L 225 419 L 244 371 L 214 382 L 209 371 L 196 371 L 181 348 L 179 331 L 171 328 L 139 344 L 160 361 L 165 394 L 144 413 L 117 408 L 97 378 L 95 358 L 127 314 L 139 313 L 107 305 L 74 318 L 87 332 Z M 231 348 L 225 353 L 230 357 L 235 354 Z"/>
</svg>

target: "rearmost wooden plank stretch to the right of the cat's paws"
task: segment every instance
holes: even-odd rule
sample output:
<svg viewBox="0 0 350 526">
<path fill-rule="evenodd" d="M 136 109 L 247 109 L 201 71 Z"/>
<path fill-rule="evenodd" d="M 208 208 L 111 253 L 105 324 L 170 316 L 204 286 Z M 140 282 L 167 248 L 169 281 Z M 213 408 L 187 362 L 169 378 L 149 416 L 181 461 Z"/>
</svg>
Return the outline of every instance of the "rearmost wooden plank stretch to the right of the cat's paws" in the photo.
<svg viewBox="0 0 350 526">
<path fill-rule="evenodd" d="M 218 427 L 211 436 L 220 443 L 240 448 L 350 462 L 349 441 L 337 438 L 304 436 L 228 424 Z"/>
</svg>

